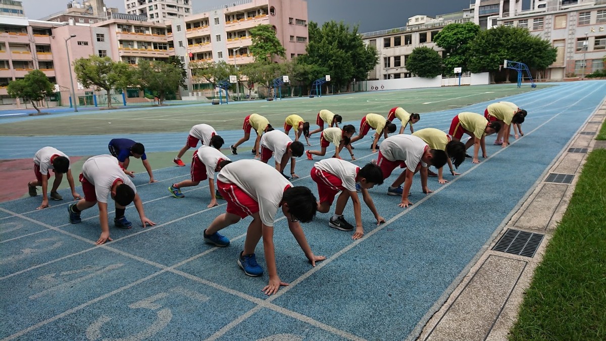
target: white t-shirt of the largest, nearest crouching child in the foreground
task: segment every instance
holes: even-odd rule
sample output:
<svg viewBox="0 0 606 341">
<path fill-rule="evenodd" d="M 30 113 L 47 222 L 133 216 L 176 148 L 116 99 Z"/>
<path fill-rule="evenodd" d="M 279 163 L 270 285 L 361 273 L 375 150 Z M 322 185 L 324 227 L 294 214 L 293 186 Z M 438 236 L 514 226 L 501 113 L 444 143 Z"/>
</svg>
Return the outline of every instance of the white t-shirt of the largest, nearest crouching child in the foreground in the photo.
<svg viewBox="0 0 606 341">
<path fill-rule="evenodd" d="M 217 180 L 233 183 L 259 204 L 259 216 L 265 226 L 273 226 L 284 190 L 292 187 L 274 167 L 259 160 L 238 160 L 221 169 Z"/>
</svg>

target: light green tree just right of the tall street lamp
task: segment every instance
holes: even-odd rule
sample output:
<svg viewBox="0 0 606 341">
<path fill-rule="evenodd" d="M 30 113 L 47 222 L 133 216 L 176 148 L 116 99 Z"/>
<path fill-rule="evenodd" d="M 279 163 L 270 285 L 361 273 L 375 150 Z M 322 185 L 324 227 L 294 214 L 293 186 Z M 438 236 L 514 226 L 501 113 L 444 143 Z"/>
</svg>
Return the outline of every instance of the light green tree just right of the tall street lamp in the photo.
<svg viewBox="0 0 606 341">
<path fill-rule="evenodd" d="M 112 89 L 124 89 L 136 83 L 132 70 L 124 62 L 115 62 L 109 57 L 95 55 L 79 58 L 74 62 L 76 78 L 87 89 L 103 89 L 107 92 L 107 107 L 112 107 Z"/>
</svg>

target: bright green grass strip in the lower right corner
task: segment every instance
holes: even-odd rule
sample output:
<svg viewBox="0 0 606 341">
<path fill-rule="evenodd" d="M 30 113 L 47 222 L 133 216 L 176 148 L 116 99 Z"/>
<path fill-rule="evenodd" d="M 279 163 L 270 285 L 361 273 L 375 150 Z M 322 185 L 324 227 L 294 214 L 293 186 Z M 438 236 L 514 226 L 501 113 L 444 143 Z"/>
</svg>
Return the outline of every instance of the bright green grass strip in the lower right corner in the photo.
<svg viewBox="0 0 606 341">
<path fill-rule="evenodd" d="M 510 340 L 606 340 L 606 149 L 589 155 Z"/>
</svg>

